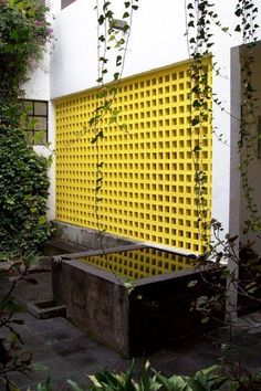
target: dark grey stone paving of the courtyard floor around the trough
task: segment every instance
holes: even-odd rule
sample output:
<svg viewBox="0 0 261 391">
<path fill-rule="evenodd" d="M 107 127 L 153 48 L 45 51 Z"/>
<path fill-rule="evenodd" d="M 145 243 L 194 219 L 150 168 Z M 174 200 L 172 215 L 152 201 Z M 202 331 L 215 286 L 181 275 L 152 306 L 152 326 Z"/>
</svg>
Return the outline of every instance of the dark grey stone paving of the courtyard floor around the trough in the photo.
<svg viewBox="0 0 261 391">
<path fill-rule="evenodd" d="M 21 303 L 29 300 L 51 299 L 51 274 L 44 273 L 33 276 L 38 285 L 22 283 L 15 290 Z M 0 294 L 4 287 L 0 286 Z M 33 362 L 43 363 L 49 369 L 45 372 L 32 372 L 27 378 L 14 374 L 13 380 L 22 390 L 36 389 L 39 381 L 49 376 L 53 380 L 54 391 L 69 391 L 71 388 L 66 379 L 77 381 L 80 385 L 88 383 L 87 374 L 101 369 L 124 371 L 128 360 L 123 359 L 107 347 L 97 344 L 62 317 L 38 319 L 31 314 L 19 315 L 24 325 L 15 326 L 25 341 L 25 347 L 32 352 Z M 250 370 L 261 370 L 261 310 L 254 316 L 240 318 L 238 327 L 233 328 L 231 352 L 237 348 L 238 357 Z M 166 376 L 174 373 L 191 374 L 203 367 L 218 363 L 221 344 L 229 342 L 229 329 L 219 328 L 198 337 L 191 341 L 182 341 L 168 346 L 150 355 L 152 366 Z M 146 357 L 136 360 L 137 369 Z M 1 390 L 1 385 L 0 385 Z"/>
</svg>

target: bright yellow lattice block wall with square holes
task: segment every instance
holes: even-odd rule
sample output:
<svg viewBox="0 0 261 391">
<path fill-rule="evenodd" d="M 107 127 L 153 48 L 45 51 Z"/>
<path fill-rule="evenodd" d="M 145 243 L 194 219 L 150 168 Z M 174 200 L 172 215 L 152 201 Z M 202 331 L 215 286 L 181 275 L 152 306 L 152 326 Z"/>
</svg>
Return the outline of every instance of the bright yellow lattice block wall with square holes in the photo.
<svg viewBox="0 0 261 391">
<path fill-rule="evenodd" d="M 133 240 L 202 250 L 198 234 L 191 150 L 200 138 L 207 173 L 206 209 L 211 210 L 211 125 L 191 129 L 189 63 L 122 81 L 113 107 L 119 124 L 104 118 L 100 161 L 103 187 L 100 229 Z M 101 105 L 97 91 L 56 101 L 56 219 L 97 229 L 94 137 L 88 128 Z M 203 135 L 202 135 L 203 134 Z M 100 197 L 98 196 L 98 197 Z"/>
</svg>

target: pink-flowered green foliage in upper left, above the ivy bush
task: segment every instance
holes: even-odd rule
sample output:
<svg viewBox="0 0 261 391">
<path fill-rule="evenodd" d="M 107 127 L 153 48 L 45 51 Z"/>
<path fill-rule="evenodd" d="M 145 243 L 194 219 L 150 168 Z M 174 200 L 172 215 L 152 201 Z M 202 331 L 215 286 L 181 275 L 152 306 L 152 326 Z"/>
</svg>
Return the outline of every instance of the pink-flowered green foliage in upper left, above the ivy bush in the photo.
<svg viewBox="0 0 261 391">
<path fill-rule="evenodd" d="M 52 36 L 41 0 L 0 0 L 0 118 L 18 124 L 21 85 Z"/>
</svg>

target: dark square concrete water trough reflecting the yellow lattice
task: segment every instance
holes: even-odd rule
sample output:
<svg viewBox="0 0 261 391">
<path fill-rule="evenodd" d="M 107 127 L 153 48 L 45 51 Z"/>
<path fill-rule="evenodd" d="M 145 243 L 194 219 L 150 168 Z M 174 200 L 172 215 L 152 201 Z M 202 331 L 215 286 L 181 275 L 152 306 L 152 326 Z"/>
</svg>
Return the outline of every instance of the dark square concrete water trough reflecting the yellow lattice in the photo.
<svg viewBox="0 0 261 391">
<path fill-rule="evenodd" d="M 133 279 L 129 282 L 127 276 L 112 272 L 111 261 L 109 271 L 92 264 L 104 256 L 115 258 L 115 254 L 124 258 L 125 264 L 126 260 L 136 256 L 139 276 L 143 275 L 140 270 L 152 266 L 150 261 L 155 264 L 155 258 L 158 260 L 157 273 L 160 273 L 159 266 L 168 266 L 168 271 L 134 278 L 132 268 Z M 177 256 L 178 263 L 175 263 Z M 145 260 L 144 265 L 140 260 Z M 52 271 L 53 297 L 56 305 L 66 306 L 69 320 L 126 358 L 179 344 L 219 326 L 219 320 L 225 318 L 223 304 L 219 309 L 213 308 L 206 324 L 202 314 L 191 310 L 197 297 L 212 297 L 226 286 L 226 281 L 220 279 L 220 270 L 210 266 L 199 271 L 195 268 L 192 257 L 139 244 L 106 250 L 105 255 L 101 251 L 91 251 L 53 257 Z M 189 284 L 191 281 L 194 283 Z"/>
</svg>

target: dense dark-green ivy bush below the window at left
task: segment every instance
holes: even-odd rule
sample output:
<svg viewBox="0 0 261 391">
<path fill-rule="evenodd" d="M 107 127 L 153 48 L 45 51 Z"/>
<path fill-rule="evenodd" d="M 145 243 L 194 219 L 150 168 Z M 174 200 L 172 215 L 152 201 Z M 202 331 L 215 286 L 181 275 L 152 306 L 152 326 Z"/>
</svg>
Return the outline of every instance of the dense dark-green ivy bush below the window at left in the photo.
<svg viewBox="0 0 261 391">
<path fill-rule="evenodd" d="M 50 233 L 45 218 L 50 161 L 20 128 L 0 126 L 0 252 L 30 256 Z"/>
</svg>

